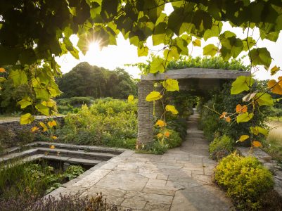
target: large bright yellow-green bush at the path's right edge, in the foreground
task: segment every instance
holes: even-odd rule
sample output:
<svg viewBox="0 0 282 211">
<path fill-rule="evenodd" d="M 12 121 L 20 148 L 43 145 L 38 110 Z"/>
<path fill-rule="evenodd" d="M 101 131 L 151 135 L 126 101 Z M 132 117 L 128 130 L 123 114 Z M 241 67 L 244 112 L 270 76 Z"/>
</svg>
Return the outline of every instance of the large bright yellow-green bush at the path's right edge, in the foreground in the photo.
<svg viewBox="0 0 282 211">
<path fill-rule="evenodd" d="M 274 185 L 271 172 L 257 158 L 235 153 L 219 162 L 214 180 L 226 189 L 236 207 L 246 210 L 257 210 L 261 206 L 262 194 Z"/>
</svg>

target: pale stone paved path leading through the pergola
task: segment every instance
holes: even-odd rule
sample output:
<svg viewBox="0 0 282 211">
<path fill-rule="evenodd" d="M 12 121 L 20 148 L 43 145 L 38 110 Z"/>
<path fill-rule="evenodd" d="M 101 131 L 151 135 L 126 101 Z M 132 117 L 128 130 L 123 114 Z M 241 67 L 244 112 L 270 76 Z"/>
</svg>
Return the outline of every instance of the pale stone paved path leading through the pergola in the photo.
<svg viewBox="0 0 282 211">
<path fill-rule="evenodd" d="M 188 136 L 181 147 L 165 155 L 125 151 L 51 195 L 102 192 L 108 202 L 132 210 L 229 210 L 231 201 L 212 184 L 216 162 L 208 158 L 208 143 L 197 129 L 197 120 L 197 114 L 189 118 Z"/>
</svg>

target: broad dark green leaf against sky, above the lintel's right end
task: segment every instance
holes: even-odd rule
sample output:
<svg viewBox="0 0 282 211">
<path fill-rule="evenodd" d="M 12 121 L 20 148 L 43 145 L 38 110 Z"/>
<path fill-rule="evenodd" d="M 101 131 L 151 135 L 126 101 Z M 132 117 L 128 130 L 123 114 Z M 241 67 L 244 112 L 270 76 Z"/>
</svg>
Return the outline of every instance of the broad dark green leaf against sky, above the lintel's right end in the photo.
<svg viewBox="0 0 282 211">
<path fill-rule="evenodd" d="M 271 56 L 267 48 L 252 49 L 249 56 L 252 65 L 264 65 L 268 69 L 271 64 Z"/>
</svg>

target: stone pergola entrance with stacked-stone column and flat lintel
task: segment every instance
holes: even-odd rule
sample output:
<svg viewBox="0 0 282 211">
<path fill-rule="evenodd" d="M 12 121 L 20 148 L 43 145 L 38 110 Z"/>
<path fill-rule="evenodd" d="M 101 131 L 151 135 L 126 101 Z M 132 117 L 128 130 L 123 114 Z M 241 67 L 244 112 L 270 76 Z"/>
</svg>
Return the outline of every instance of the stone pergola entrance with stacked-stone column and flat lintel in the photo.
<svg viewBox="0 0 282 211">
<path fill-rule="evenodd" d="M 219 87 L 222 81 L 236 79 L 238 76 L 248 76 L 250 72 L 239 70 L 220 70 L 207 68 L 186 68 L 169 70 L 165 74 L 141 75 L 138 84 L 138 139 L 137 144 L 148 144 L 153 141 L 153 102 L 146 101 L 146 96 L 153 91 L 153 83 L 163 79 L 178 79 L 180 89 L 186 89 L 186 84 L 196 84 L 196 89 L 206 90 Z M 155 108 L 158 109 L 158 108 Z"/>
</svg>

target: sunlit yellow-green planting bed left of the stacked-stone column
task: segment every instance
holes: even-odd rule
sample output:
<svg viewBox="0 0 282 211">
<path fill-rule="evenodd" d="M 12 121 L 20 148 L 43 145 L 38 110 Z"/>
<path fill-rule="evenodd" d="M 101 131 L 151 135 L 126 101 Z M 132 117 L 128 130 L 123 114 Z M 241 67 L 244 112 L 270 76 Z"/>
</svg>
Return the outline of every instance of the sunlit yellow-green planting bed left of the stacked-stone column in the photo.
<svg viewBox="0 0 282 211">
<path fill-rule="evenodd" d="M 92 106 L 82 106 L 77 114 L 65 117 L 65 125 L 57 133 L 58 139 L 68 143 L 134 149 L 136 111 L 136 101 L 96 100 Z"/>
</svg>

